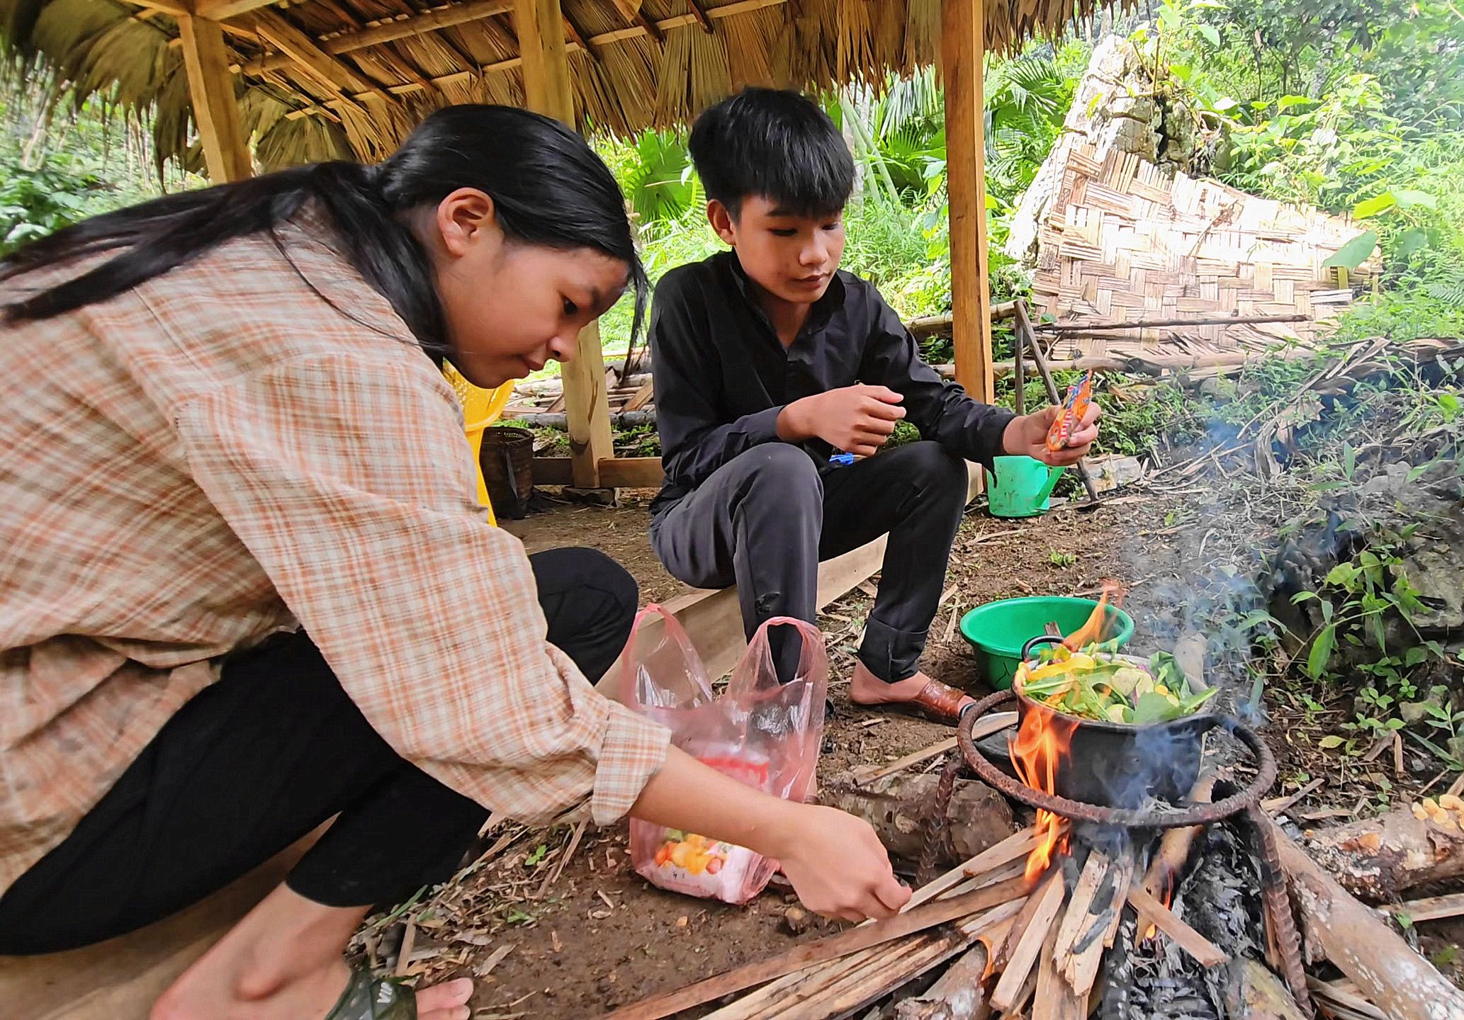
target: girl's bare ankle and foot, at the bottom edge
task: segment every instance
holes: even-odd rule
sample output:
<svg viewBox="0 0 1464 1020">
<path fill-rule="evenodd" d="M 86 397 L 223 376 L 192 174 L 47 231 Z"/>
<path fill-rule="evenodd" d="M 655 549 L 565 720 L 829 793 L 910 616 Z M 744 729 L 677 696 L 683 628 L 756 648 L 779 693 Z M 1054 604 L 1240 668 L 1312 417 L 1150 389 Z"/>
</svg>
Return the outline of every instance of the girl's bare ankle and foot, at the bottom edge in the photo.
<svg viewBox="0 0 1464 1020">
<path fill-rule="evenodd" d="M 183 972 L 151 1020 L 325 1020 L 350 978 L 341 953 L 365 907 L 326 907 L 281 885 Z M 467 1020 L 473 982 L 417 992 L 417 1020 Z"/>
</svg>

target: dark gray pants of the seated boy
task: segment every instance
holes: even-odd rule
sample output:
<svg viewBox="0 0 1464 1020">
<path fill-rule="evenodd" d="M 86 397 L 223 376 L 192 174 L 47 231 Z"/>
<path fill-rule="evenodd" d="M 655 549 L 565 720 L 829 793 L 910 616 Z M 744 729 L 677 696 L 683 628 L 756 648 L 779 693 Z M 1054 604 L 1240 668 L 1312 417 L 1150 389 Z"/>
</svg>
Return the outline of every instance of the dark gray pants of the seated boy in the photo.
<svg viewBox="0 0 1464 1020">
<path fill-rule="evenodd" d="M 728 461 L 650 528 L 676 578 L 736 584 L 751 638 L 773 616 L 817 622 L 818 562 L 890 533 L 859 660 L 881 680 L 914 675 L 940 604 L 966 502 L 966 465 L 934 442 L 886 449 L 823 471 L 802 448 L 763 443 Z M 779 676 L 798 666 L 798 635 L 773 634 Z"/>
</svg>

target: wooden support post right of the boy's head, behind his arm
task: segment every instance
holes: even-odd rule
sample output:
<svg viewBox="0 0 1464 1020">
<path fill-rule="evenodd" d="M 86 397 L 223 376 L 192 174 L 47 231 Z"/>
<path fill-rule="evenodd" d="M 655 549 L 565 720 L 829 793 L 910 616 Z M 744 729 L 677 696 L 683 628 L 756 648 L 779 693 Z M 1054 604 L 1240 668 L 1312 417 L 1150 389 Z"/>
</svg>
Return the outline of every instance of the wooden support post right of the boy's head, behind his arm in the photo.
<svg viewBox="0 0 1464 1020">
<path fill-rule="evenodd" d="M 979 401 L 996 397 L 991 291 L 987 282 L 985 0 L 943 0 L 946 189 L 950 196 L 950 299 L 956 382 Z"/>
</svg>

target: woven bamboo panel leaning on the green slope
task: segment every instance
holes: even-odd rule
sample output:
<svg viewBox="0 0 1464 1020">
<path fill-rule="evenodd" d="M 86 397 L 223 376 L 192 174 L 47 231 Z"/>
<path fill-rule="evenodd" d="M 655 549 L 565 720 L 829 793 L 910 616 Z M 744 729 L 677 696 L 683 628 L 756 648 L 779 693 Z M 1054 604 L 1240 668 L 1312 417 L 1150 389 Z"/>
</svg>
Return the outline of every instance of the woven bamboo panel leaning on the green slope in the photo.
<svg viewBox="0 0 1464 1020">
<path fill-rule="evenodd" d="M 1310 316 L 1064 335 L 1058 357 L 1265 350 L 1310 344 L 1315 320 L 1351 300 L 1322 263 L 1357 234 L 1341 217 L 1167 176 L 1130 152 L 1072 143 L 1041 225 L 1032 297 L 1063 323 L 1217 315 Z M 1364 265 L 1353 275 L 1366 278 Z"/>
</svg>

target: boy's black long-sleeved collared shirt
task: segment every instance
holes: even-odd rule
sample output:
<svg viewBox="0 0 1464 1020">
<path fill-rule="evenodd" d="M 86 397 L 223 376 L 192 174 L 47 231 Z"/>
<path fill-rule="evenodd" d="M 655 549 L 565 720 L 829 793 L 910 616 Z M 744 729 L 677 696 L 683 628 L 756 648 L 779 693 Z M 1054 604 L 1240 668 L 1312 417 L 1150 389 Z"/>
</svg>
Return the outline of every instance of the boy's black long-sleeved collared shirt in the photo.
<svg viewBox="0 0 1464 1020">
<path fill-rule="evenodd" d="M 966 460 L 991 465 L 1013 414 L 979 404 L 925 364 L 919 347 L 880 293 L 834 274 L 808 322 L 783 348 L 733 252 L 668 272 L 650 320 L 656 423 L 666 481 L 659 515 L 758 443 L 777 442 L 783 405 L 855 383 L 905 397 L 905 420 Z M 821 439 L 799 443 L 830 470 Z"/>
</svg>

